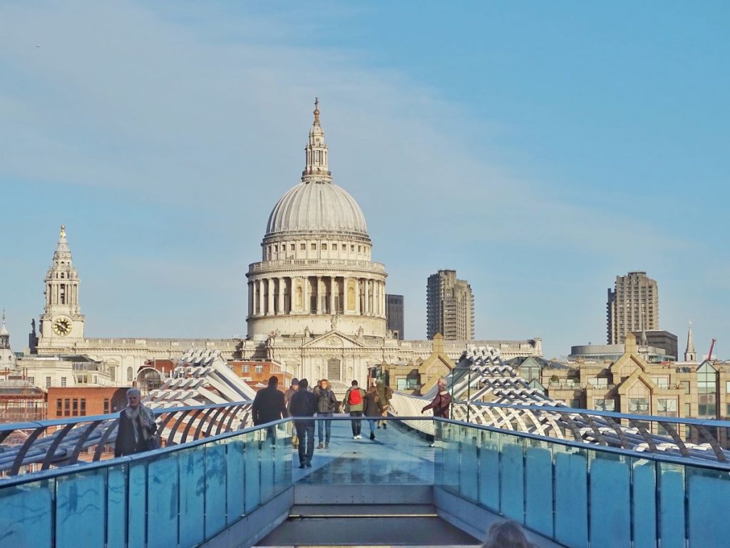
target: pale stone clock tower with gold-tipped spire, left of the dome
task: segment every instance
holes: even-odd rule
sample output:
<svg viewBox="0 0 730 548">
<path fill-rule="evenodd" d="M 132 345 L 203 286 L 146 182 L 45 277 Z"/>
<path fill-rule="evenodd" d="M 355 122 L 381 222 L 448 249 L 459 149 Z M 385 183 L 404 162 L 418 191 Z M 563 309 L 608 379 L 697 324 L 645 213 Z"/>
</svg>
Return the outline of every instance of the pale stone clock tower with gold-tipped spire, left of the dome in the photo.
<svg viewBox="0 0 730 548">
<path fill-rule="evenodd" d="M 79 311 L 79 275 L 72 262 L 64 225 L 61 225 L 58 246 L 53 254 L 53 265 L 46 274 L 45 297 L 38 346 L 63 349 L 83 340 L 84 316 Z"/>
</svg>

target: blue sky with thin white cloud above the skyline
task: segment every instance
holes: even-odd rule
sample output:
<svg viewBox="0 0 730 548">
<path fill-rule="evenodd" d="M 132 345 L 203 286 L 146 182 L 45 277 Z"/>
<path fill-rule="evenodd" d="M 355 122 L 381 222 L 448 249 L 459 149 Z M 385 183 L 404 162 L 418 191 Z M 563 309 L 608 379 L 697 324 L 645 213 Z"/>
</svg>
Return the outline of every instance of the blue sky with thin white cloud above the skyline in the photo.
<svg viewBox="0 0 730 548">
<path fill-rule="evenodd" d="M 89 336 L 245 334 L 245 271 L 320 97 L 406 335 L 454 268 L 479 338 L 605 340 L 645 270 L 661 327 L 728 354 L 723 2 L 0 5 L 0 306 L 43 307 L 58 225 Z"/>
</svg>

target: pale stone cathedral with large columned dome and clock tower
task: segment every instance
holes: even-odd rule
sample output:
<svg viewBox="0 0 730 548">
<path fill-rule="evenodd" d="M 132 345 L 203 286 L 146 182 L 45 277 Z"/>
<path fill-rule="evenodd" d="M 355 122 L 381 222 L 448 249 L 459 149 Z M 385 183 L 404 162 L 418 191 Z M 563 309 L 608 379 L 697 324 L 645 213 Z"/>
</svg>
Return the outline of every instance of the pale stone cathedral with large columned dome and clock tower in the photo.
<svg viewBox="0 0 730 548">
<path fill-rule="evenodd" d="M 261 261 L 247 276 L 247 336 L 242 339 L 85 338 L 80 278 L 61 227 L 45 279 L 45 309 L 34 354 L 84 354 L 103 361 L 119 384 L 134 381 L 148 359 L 174 359 L 191 348 L 218 349 L 228 359 L 274 359 L 293 376 L 363 382 L 383 362 L 418 362 L 431 340 L 397 340 L 386 330 L 385 266 L 372 261 L 365 216 L 328 168 L 328 147 L 315 102 L 301 181 L 269 215 Z M 35 327 L 34 327 L 35 331 Z M 542 356 L 542 341 L 449 340 L 456 359 L 467 343 L 502 357 Z"/>
</svg>

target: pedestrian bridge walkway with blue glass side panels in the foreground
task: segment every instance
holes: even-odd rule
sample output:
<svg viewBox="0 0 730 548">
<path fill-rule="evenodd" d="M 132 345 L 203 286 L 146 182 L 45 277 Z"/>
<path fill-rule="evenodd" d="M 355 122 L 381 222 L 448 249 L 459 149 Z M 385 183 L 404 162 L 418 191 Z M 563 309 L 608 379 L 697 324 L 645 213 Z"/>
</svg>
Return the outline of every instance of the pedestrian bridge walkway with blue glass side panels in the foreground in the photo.
<svg viewBox="0 0 730 548">
<path fill-rule="evenodd" d="M 304 470 L 285 419 L 275 439 L 251 427 L 7 477 L 0 547 L 468 546 L 504 519 L 541 547 L 728 545 L 721 459 L 409 416 L 353 440 L 332 420 Z"/>
</svg>

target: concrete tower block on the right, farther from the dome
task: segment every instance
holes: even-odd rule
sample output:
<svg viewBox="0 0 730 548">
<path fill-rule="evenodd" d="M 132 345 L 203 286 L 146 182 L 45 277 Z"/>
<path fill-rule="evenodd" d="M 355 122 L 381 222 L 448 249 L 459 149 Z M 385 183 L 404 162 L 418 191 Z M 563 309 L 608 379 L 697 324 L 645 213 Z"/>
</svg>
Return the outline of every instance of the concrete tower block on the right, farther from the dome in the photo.
<svg viewBox="0 0 730 548">
<path fill-rule="evenodd" d="M 623 344 L 629 332 L 659 329 L 659 289 L 645 272 L 616 276 L 606 303 L 607 342 Z"/>
</svg>

